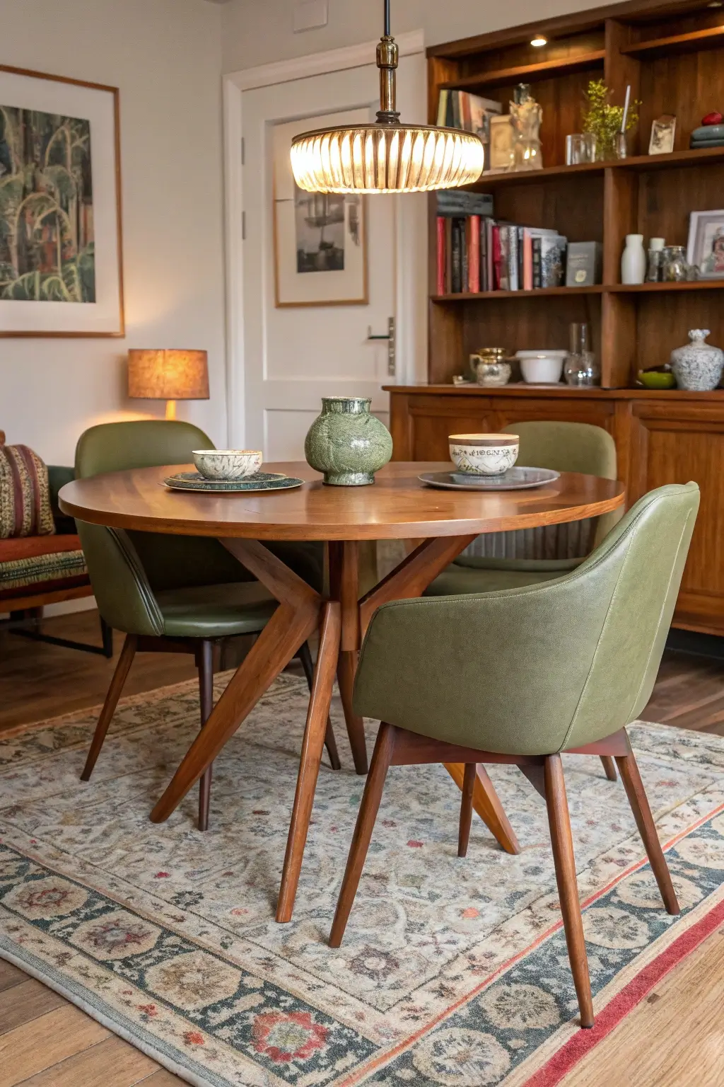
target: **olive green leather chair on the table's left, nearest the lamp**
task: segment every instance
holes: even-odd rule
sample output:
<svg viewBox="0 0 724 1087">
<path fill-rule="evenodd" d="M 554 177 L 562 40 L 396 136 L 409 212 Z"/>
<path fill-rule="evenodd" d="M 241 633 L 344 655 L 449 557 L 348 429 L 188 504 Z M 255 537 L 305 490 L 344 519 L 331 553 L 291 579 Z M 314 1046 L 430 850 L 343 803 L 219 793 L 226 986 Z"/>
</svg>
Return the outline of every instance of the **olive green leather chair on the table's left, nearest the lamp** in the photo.
<svg viewBox="0 0 724 1087">
<path fill-rule="evenodd" d="M 76 448 L 76 476 L 188 464 L 192 450 L 213 449 L 199 427 L 165 420 L 107 423 L 86 430 Z M 98 608 L 109 626 L 126 635 L 101 710 L 81 780 L 90 778 L 137 650 L 193 652 L 199 667 L 201 726 L 213 709 L 214 657 L 225 638 L 258 635 L 277 601 L 216 539 L 124 532 L 78 521 L 78 534 Z M 276 550 L 300 576 L 321 586 L 321 555 L 304 544 Z M 300 660 L 312 684 L 305 642 Z M 331 724 L 327 750 L 340 766 Z M 208 825 L 212 769 L 199 786 L 199 828 Z"/>
</svg>

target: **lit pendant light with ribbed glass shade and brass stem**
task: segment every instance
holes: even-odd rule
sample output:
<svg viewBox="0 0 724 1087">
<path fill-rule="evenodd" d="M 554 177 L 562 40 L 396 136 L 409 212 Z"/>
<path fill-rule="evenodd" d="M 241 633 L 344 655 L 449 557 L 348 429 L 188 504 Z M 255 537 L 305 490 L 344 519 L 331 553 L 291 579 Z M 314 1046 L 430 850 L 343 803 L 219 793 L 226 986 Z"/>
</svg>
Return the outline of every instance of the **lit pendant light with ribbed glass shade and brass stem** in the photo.
<svg viewBox="0 0 724 1087">
<path fill-rule="evenodd" d="M 461 128 L 403 125 L 395 109 L 398 49 L 390 34 L 377 47 L 380 110 L 374 124 L 341 125 L 303 133 L 292 142 L 292 172 L 307 192 L 425 192 L 477 182 L 484 148 Z"/>
</svg>

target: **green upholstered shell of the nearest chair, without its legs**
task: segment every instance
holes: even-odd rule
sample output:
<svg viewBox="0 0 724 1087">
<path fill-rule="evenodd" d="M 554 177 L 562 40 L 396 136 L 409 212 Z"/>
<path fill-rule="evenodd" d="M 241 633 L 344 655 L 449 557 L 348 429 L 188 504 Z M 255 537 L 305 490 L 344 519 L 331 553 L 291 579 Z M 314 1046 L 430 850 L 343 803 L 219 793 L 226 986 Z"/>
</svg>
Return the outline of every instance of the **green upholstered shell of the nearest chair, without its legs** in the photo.
<svg viewBox="0 0 724 1087">
<path fill-rule="evenodd" d="M 356 712 L 508 754 L 624 727 L 651 695 L 698 507 L 696 484 L 661 487 L 556 580 L 384 604 L 363 646 Z"/>
</svg>

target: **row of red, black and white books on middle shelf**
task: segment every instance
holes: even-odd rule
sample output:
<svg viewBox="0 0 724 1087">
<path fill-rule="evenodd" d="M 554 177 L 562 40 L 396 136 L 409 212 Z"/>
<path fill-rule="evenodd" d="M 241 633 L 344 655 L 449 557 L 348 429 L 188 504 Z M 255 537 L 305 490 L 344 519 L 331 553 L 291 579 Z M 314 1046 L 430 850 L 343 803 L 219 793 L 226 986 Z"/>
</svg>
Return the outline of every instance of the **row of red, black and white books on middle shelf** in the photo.
<svg viewBox="0 0 724 1087">
<path fill-rule="evenodd" d="M 437 215 L 439 295 L 560 287 L 568 241 L 490 215 Z"/>
</svg>

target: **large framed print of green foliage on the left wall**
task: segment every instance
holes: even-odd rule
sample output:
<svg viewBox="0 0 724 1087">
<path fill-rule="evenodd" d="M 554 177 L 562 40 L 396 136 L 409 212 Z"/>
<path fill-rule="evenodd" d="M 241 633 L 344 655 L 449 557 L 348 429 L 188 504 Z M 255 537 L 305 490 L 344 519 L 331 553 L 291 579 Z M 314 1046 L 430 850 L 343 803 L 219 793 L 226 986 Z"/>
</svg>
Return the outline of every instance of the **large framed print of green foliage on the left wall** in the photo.
<svg viewBox="0 0 724 1087">
<path fill-rule="evenodd" d="M 0 65 L 0 336 L 123 336 L 118 89 Z"/>
</svg>

